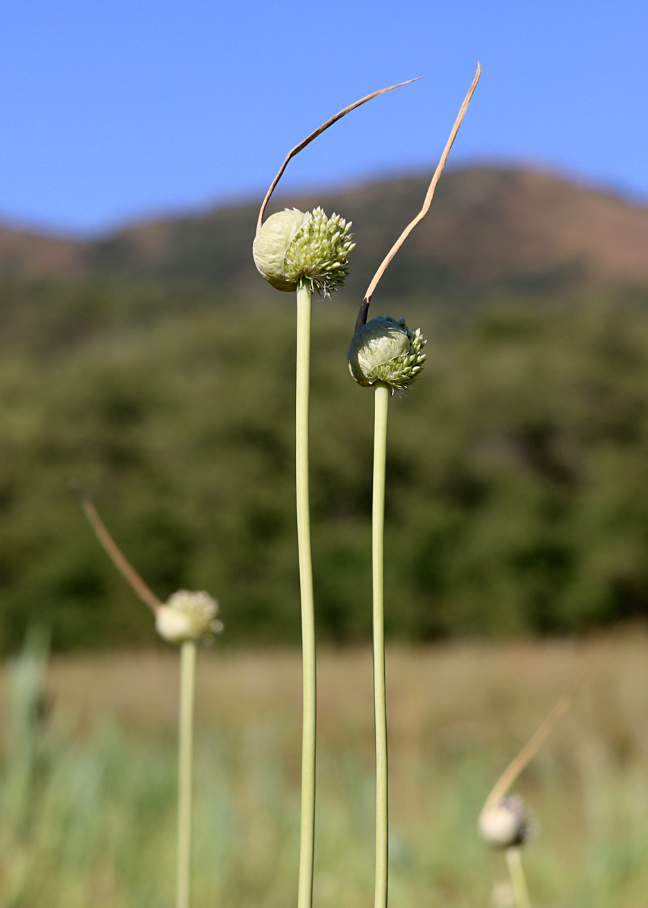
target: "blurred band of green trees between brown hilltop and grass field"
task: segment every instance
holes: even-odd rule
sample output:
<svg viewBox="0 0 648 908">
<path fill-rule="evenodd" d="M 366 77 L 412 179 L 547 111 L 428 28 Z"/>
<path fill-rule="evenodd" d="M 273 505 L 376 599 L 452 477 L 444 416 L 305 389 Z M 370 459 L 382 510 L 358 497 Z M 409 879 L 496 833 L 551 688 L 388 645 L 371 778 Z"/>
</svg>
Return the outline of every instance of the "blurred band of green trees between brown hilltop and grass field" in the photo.
<svg viewBox="0 0 648 908">
<path fill-rule="evenodd" d="M 34 616 L 57 648 L 155 638 L 70 483 L 160 597 L 220 598 L 224 644 L 298 640 L 292 301 L 5 284 L 0 307 L 0 646 Z M 413 301 L 403 314 L 431 340 L 422 380 L 391 405 L 389 633 L 646 615 L 643 306 L 521 301 L 459 320 Z M 373 395 L 346 369 L 354 316 L 348 297 L 315 303 L 315 593 L 336 641 L 369 631 Z"/>
</svg>

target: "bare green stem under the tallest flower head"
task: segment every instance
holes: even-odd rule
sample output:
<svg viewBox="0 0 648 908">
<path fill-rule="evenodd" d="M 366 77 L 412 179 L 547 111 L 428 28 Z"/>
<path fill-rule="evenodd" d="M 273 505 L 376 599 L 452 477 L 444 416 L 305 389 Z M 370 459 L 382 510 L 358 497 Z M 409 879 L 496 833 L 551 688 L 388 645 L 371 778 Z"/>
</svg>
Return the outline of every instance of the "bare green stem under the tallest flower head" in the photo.
<svg viewBox="0 0 648 908">
<path fill-rule="evenodd" d="M 308 507 L 308 389 L 311 361 L 311 298 L 304 281 L 297 289 L 297 374 L 295 395 L 295 476 L 297 487 L 297 546 L 302 597 L 302 666 L 304 706 L 302 726 L 302 826 L 299 850 L 297 908 L 313 902 L 315 834 L 315 627 L 311 527 Z"/>
</svg>

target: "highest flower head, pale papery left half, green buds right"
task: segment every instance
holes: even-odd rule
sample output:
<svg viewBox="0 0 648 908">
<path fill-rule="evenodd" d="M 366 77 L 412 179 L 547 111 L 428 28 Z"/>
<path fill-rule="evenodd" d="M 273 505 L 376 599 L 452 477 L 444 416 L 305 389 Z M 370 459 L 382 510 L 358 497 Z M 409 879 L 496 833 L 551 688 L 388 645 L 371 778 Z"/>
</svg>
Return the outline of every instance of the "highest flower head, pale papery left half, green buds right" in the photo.
<svg viewBox="0 0 648 908">
<path fill-rule="evenodd" d="M 341 287 L 348 271 L 353 234 L 337 214 L 313 212 L 271 214 L 254 237 L 252 254 L 257 271 L 277 290 L 294 291 L 307 281 L 321 296 Z"/>
</svg>

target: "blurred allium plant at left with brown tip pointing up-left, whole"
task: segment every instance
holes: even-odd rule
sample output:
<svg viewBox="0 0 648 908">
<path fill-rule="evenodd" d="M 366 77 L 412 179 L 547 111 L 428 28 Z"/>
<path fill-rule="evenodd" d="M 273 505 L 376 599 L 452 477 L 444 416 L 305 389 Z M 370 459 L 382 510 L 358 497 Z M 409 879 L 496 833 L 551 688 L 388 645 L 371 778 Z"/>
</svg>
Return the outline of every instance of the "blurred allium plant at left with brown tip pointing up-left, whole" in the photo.
<svg viewBox="0 0 648 908">
<path fill-rule="evenodd" d="M 176 908 L 189 908 L 191 893 L 192 787 L 194 763 L 194 700 L 197 644 L 210 644 L 223 630 L 218 602 L 204 590 L 179 589 L 162 602 L 125 558 L 105 528 L 90 498 L 79 493 L 81 506 L 105 552 L 135 593 L 155 616 L 155 629 L 167 643 L 180 646 L 180 709 L 178 714 L 178 852 Z"/>
</svg>

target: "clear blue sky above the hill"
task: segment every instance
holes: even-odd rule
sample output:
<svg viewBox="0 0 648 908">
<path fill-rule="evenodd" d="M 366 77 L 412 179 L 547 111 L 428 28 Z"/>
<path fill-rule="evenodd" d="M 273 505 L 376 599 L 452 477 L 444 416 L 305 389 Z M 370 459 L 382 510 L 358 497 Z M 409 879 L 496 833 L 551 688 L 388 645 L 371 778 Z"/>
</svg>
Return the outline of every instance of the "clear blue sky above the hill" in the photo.
<svg viewBox="0 0 648 908">
<path fill-rule="evenodd" d="M 102 232 L 285 189 L 536 163 L 648 201 L 648 5 L 22 0 L 0 15 L 0 219 Z"/>
</svg>

